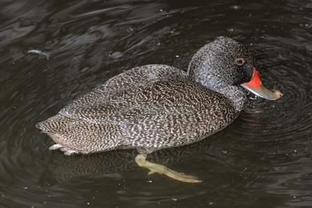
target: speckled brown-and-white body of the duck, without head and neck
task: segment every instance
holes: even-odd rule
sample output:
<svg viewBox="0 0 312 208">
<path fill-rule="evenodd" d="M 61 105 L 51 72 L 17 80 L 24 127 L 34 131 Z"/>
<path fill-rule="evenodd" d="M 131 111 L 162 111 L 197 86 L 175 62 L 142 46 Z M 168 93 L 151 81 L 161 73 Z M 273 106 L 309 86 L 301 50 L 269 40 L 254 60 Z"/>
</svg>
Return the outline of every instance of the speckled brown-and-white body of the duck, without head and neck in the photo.
<svg viewBox="0 0 312 208">
<path fill-rule="evenodd" d="M 70 102 L 37 127 L 74 152 L 157 150 L 194 143 L 238 115 L 231 100 L 167 65 L 135 67 Z"/>
</svg>

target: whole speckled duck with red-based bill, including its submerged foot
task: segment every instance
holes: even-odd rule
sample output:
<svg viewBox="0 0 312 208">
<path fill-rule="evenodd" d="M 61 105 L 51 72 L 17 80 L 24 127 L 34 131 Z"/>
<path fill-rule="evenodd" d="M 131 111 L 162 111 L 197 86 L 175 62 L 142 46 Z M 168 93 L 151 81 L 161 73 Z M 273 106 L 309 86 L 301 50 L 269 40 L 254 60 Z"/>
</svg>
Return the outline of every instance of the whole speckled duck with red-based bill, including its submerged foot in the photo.
<svg viewBox="0 0 312 208">
<path fill-rule="evenodd" d="M 231 124 L 247 101 L 243 88 L 278 99 L 263 86 L 253 53 L 231 38 L 218 37 L 193 56 L 187 72 L 144 65 L 118 74 L 36 125 L 64 154 L 136 148 L 135 161 L 151 173 L 201 182 L 146 161 L 162 148 L 200 141 Z"/>
</svg>

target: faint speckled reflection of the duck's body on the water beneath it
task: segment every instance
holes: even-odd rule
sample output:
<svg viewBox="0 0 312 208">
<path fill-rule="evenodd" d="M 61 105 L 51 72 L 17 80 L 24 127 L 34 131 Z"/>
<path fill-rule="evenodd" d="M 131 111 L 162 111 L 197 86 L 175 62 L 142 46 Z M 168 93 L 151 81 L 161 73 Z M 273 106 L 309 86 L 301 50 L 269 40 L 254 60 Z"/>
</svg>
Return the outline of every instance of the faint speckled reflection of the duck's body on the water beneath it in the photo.
<svg viewBox="0 0 312 208">
<path fill-rule="evenodd" d="M 189 159 L 200 158 L 205 152 L 215 157 L 224 157 L 224 144 L 228 140 L 220 136 L 221 132 L 214 134 L 203 141 L 159 150 L 146 158 L 152 163 L 171 166 Z M 57 182 L 66 182 L 75 177 L 102 175 L 109 173 L 122 173 L 138 170 L 141 167 L 134 161 L 137 150 L 111 150 L 95 154 L 75 154 L 66 156 L 59 150 L 52 151 L 49 164 L 40 177 L 42 185 L 53 185 Z M 146 171 L 146 168 L 141 168 Z M 187 173 L 187 170 L 184 170 Z"/>
</svg>

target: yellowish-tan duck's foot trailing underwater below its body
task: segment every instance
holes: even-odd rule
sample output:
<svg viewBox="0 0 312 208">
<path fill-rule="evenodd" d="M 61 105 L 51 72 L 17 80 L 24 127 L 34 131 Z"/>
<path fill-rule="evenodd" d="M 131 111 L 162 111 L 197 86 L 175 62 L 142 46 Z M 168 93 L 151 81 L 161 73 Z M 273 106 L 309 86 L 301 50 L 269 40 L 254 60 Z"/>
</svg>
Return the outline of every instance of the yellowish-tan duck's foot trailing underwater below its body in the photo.
<svg viewBox="0 0 312 208">
<path fill-rule="evenodd" d="M 146 157 L 140 154 L 137 155 L 137 157 L 135 157 L 135 162 L 143 168 L 150 169 L 150 172 L 148 173 L 148 175 L 151 175 L 153 173 L 159 173 L 159 174 L 168 175 L 169 177 L 176 179 L 178 181 L 181 181 L 181 182 L 187 182 L 187 183 L 203 182 L 202 180 L 198 180 L 197 177 L 194 177 L 192 175 L 185 175 L 184 173 L 178 173 L 174 170 L 167 168 L 166 166 L 162 166 L 156 163 L 151 163 L 149 161 L 146 161 Z"/>
</svg>

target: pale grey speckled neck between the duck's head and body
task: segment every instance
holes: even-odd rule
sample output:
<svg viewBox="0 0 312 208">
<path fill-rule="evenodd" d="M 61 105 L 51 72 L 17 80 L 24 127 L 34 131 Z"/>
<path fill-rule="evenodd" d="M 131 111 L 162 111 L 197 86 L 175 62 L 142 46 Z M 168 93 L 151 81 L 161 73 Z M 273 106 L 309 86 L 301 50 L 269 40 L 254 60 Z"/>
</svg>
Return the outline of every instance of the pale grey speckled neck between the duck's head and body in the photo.
<svg viewBox="0 0 312 208">
<path fill-rule="evenodd" d="M 244 104 L 247 102 L 247 96 L 244 93 L 244 89 L 240 86 L 231 86 L 227 83 L 224 83 L 221 78 L 217 77 L 215 74 L 192 74 L 190 70 L 187 71 L 187 76 L 189 79 L 201 83 L 210 90 L 214 90 L 222 95 L 226 96 L 228 99 L 231 99 L 235 105 L 237 112 L 242 111 Z"/>
</svg>

